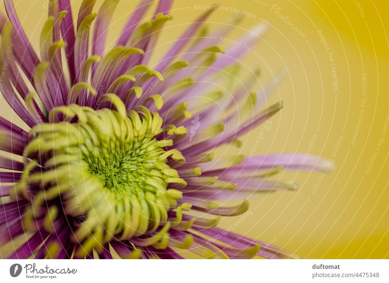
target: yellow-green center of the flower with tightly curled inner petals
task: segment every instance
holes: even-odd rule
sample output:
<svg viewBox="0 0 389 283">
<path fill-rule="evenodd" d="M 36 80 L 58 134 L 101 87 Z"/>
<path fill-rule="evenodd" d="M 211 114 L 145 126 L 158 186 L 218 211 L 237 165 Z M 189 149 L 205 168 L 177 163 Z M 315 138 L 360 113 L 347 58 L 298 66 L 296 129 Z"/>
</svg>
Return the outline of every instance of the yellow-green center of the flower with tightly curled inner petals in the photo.
<svg viewBox="0 0 389 283">
<path fill-rule="evenodd" d="M 73 221 L 73 241 L 81 244 L 81 256 L 113 238 L 129 240 L 165 226 L 182 197 L 169 184 L 186 185 L 167 165 L 185 159 L 165 150 L 172 140 L 155 138 L 162 132 L 158 113 L 144 106 L 126 111 L 114 95 L 104 100 L 117 110 L 60 106 L 50 112 L 51 123 L 31 130 L 31 162 L 14 195 L 31 200 L 23 220 L 31 230 L 42 223 L 53 232 L 60 213 L 79 220 Z M 59 115 L 64 121 L 55 123 Z"/>
</svg>

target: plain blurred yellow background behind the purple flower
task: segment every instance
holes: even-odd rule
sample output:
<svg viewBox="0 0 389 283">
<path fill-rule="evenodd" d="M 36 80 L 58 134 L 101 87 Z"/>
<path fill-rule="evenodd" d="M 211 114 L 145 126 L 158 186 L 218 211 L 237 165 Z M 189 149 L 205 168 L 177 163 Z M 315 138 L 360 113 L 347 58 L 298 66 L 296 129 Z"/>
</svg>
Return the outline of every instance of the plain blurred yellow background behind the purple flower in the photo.
<svg viewBox="0 0 389 283">
<path fill-rule="evenodd" d="M 81 1 L 72 2 L 75 17 Z M 114 43 L 137 2 L 119 3 L 108 43 Z M 14 3 L 38 47 L 48 0 Z M 173 21 L 164 26 L 154 62 L 210 4 L 175 1 Z M 219 0 L 214 9 L 208 19 L 211 30 L 241 15 L 228 35 L 232 41 L 220 41 L 224 49 L 258 23 L 269 25 L 241 62 L 243 81 L 260 70 L 252 90 L 288 70 L 266 101 L 282 100 L 283 110 L 271 126 L 259 126 L 243 137 L 234 152 L 250 155 L 257 146 L 257 154 L 309 153 L 329 159 L 336 168 L 323 174 L 283 173 L 278 177 L 296 181 L 297 192 L 253 198 L 245 219 L 229 217 L 220 226 L 232 225 L 234 232 L 302 258 L 389 258 L 389 1 Z M 1 115 L 11 119 L 2 99 L 0 105 Z M 230 150 L 218 149 L 221 154 Z"/>
</svg>

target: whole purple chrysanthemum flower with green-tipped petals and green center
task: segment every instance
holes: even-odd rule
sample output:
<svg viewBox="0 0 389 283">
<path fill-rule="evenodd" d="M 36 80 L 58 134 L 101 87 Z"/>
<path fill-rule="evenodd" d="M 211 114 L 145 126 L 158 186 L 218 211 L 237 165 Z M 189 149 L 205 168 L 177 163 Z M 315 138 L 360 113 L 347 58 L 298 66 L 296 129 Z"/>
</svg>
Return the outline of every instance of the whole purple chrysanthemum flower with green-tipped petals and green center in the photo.
<svg viewBox="0 0 389 283">
<path fill-rule="evenodd" d="M 245 50 L 216 45 L 236 23 L 207 35 L 206 11 L 147 67 L 171 0 L 142 0 L 106 51 L 119 0 L 83 0 L 72 19 L 69 0 L 48 2 L 40 54 L 12 0 L 1 18 L 1 93 L 23 126 L 0 118 L 0 246 L 25 239 L 10 258 L 164 258 L 181 251 L 204 258 L 290 258 L 294 254 L 217 228 L 222 216 L 247 212 L 249 197 L 296 189 L 271 177 L 322 170 L 298 154 L 215 156 L 282 108 L 262 109 L 272 90 L 231 89 Z M 236 19 L 234 19 L 236 20 Z M 259 25 L 241 42 L 251 46 Z M 223 86 L 223 88 L 218 87 Z M 199 97 L 202 97 L 200 99 Z M 240 111 L 238 111 L 240 109 Z M 262 109 L 262 110 L 261 110 Z M 225 206 L 228 200 L 241 200 Z"/>
</svg>

